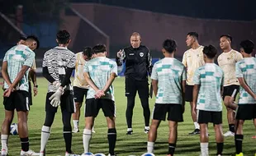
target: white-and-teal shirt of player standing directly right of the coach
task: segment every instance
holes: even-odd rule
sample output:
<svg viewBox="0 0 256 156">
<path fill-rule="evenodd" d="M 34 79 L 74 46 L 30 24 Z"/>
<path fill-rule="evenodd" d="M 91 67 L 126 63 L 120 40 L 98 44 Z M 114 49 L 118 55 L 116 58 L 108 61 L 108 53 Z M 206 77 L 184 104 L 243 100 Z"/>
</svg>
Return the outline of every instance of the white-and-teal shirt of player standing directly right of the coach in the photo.
<svg viewBox="0 0 256 156">
<path fill-rule="evenodd" d="M 151 78 L 158 80 L 156 103 L 182 103 L 182 80 L 186 70 L 182 62 L 173 57 L 164 57 L 155 62 Z"/>
</svg>

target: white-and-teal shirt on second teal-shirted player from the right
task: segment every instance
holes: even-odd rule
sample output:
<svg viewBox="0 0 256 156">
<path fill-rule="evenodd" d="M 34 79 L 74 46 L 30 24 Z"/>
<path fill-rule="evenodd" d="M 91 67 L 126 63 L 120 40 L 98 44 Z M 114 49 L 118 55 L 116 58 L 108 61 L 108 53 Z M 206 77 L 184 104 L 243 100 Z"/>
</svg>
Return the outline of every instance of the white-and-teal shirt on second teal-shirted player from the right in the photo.
<svg viewBox="0 0 256 156">
<path fill-rule="evenodd" d="M 224 83 L 224 73 L 215 63 L 206 63 L 199 67 L 194 76 L 195 85 L 200 85 L 197 109 L 221 111 L 222 99 L 220 89 Z"/>
</svg>

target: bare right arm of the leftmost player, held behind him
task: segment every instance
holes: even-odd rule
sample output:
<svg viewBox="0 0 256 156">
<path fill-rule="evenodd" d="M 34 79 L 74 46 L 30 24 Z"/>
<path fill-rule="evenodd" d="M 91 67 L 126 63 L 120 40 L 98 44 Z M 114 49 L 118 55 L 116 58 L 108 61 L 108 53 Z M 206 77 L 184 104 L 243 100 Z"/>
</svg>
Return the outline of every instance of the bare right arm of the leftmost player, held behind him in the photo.
<svg viewBox="0 0 256 156">
<path fill-rule="evenodd" d="M 30 67 L 28 67 L 28 66 L 21 67 L 21 71 L 17 74 L 17 77 L 15 78 L 15 80 L 13 80 L 12 85 L 9 85 L 9 88 L 3 92 L 3 96 L 5 96 L 5 97 L 10 96 L 10 94 L 12 93 L 12 89 L 19 83 L 19 81 L 22 79 L 22 77 L 25 75 L 26 71 L 29 68 Z"/>
</svg>

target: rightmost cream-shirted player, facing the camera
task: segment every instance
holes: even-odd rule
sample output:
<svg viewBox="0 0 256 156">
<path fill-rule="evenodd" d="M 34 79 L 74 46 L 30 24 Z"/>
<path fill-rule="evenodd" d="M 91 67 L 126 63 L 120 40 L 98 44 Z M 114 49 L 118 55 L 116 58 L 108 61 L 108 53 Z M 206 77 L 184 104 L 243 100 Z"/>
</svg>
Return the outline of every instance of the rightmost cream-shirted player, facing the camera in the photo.
<svg viewBox="0 0 256 156">
<path fill-rule="evenodd" d="M 222 98 L 227 110 L 227 118 L 229 123 L 229 131 L 225 132 L 224 136 L 235 135 L 235 112 L 237 104 L 234 104 L 231 96 L 235 93 L 234 98 L 239 93 L 239 81 L 235 77 L 235 63 L 239 62 L 243 57 L 241 53 L 231 48 L 232 37 L 229 34 L 220 36 L 220 48 L 223 53 L 218 57 L 218 64 L 224 71 L 224 89 Z M 236 92 L 235 92 L 236 90 Z"/>
</svg>

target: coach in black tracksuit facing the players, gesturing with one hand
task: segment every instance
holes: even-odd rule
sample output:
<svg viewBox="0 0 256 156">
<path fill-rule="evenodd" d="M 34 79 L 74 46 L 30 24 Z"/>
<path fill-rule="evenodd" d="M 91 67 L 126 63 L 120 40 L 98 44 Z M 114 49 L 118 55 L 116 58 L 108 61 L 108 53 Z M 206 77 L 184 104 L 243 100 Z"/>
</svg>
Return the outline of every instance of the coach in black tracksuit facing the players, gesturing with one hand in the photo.
<svg viewBox="0 0 256 156">
<path fill-rule="evenodd" d="M 116 55 L 117 66 L 122 66 L 126 62 L 126 122 L 127 133 L 132 135 L 132 115 L 135 107 L 135 96 L 138 90 L 140 102 L 145 117 L 145 133 L 149 132 L 149 83 L 148 74 L 151 74 L 152 59 L 149 54 L 149 48 L 140 45 L 140 34 L 134 32 L 130 36 L 130 46 L 120 50 Z"/>
</svg>

